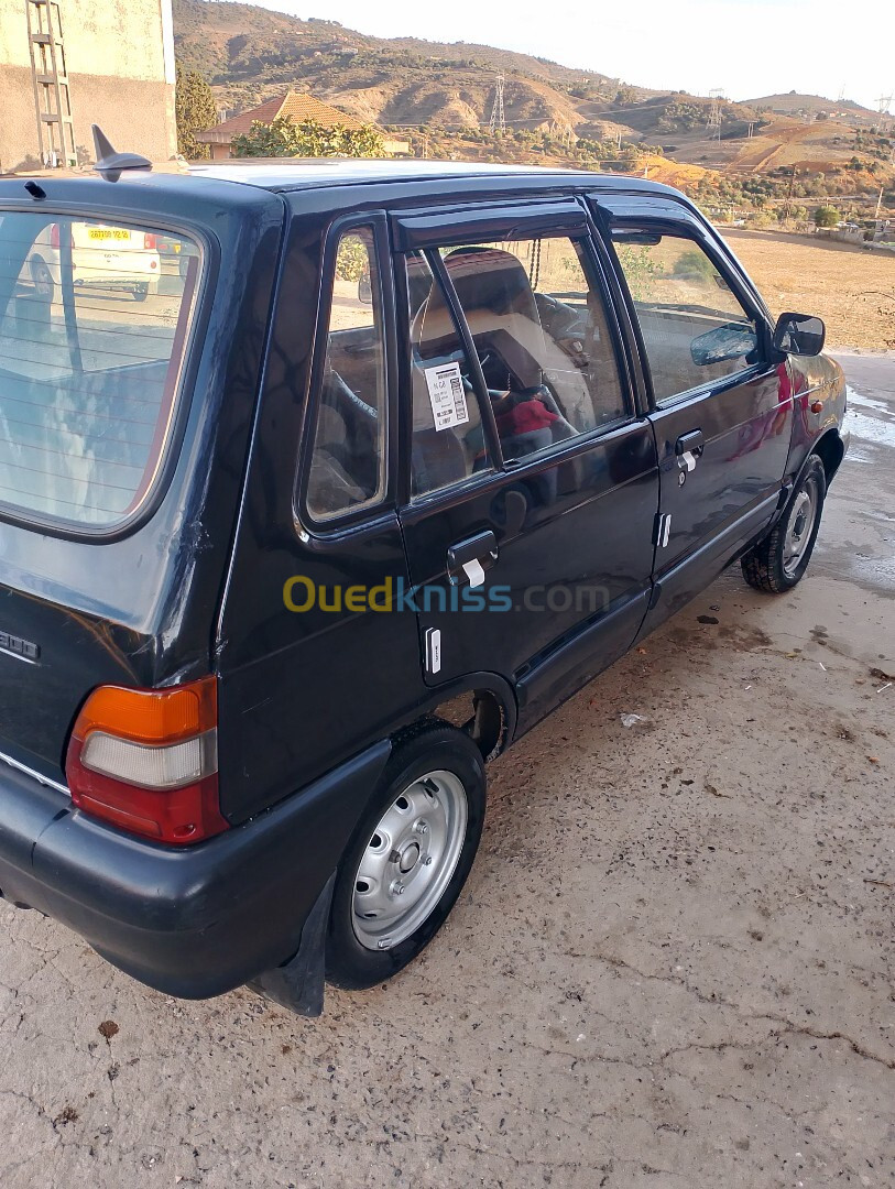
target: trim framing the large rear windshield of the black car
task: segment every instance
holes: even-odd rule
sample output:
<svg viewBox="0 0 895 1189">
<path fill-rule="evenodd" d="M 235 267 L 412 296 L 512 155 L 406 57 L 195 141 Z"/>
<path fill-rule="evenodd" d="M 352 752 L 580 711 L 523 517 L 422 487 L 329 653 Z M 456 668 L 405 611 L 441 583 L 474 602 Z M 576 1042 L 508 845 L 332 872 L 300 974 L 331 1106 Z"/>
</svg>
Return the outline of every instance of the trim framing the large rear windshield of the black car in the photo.
<svg viewBox="0 0 895 1189">
<path fill-rule="evenodd" d="M 204 227 L 193 226 L 169 215 L 151 209 L 113 209 L 102 205 L 84 207 L 83 203 L 53 202 L 39 212 L 32 206 L 20 202 L 0 203 L 0 218 L 15 214 L 39 214 L 49 216 L 45 226 L 53 219 L 87 220 L 102 224 L 132 227 L 134 231 L 149 231 L 179 235 L 191 241 L 198 249 L 198 276 L 193 292 L 193 308 L 189 325 L 177 365 L 174 383 L 171 410 L 165 426 L 165 438 L 156 459 L 150 482 L 137 505 L 109 524 L 90 526 L 81 521 L 67 520 L 63 516 L 44 515 L 23 509 L 17 504 L 0 501 L 0 523 L 14 524 L 25 529 L 38 529 L 48 536 L 80 541 L 86 545 L 108 545 L 130 536 L 155 516 L 171 485 L 174 472 L 181 459 L 183 436 L 187 429 L 190 409 L 194 403 L 194 388 L 203 345 L 208 338 L 208 327 L 213 315 L 212 297 L 216 291 L 221 263 L 221 245 L 216 235 Z M 10 292 L 12 301 L 13 292 Z M 196 350 L 197 345 L 200 350 Z M 170 363 L 170 360 L 169 360 Z"/>
</svg>

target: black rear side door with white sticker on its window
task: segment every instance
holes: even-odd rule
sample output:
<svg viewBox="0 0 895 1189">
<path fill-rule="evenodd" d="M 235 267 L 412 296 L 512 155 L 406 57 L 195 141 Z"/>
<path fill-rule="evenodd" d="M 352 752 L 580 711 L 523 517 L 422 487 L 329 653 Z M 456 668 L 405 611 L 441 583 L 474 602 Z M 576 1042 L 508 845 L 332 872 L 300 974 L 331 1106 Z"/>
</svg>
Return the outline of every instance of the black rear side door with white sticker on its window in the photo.
<svg viewBox="0 0 895 1189">
<path fill-rule="evenodd" d="M 502 674 L 524 729 L 637 634 L 653 430 L 574 200 L 403 216 L 395 243 L 426 680 Z"/>
</svg>

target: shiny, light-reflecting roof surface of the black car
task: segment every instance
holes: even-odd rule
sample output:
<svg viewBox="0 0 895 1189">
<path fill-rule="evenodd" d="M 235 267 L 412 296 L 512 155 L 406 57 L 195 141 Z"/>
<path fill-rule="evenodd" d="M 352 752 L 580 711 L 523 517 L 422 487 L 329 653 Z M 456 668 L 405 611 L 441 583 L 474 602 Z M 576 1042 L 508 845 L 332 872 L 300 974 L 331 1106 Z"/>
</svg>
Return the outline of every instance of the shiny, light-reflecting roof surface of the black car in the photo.
<svg viewBox="0 0 895 1189">
<path fill-rule="evenodd" d="M 651 194 L 674 194 L 667 185 L 625 174 L 594 174 L 584 169 L 548 169 L 538 165 L 496 165 L 462 161 L 390 161 L 349 157 L 245 159 L 198 163 L 189 166 L 195 177 L 238 182 L 265 190 L 300 190 L 321 185 L 351 185 L 379 182 L 450 182 L 459 178 L 512 178 L 524 184 L 552 182 L 597 185 L 605 189 L 637 189 Z"/>
</svg>

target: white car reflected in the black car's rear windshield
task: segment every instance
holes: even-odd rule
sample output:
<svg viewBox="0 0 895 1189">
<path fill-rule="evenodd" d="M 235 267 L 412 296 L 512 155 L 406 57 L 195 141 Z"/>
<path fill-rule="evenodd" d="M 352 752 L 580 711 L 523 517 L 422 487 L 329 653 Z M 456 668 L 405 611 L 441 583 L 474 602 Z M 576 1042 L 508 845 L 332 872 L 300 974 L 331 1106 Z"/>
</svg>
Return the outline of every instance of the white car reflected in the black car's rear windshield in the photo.
<svg viewBox="0 0 895 1189">
<path fill-rule="evenodd" d="M 124 290 L 137 301 L 158 291 L 162 258 L 156 237 L 128 227 L 73 220 L 68 234 L 77 287 Z M 62 283 L 64 253 L 59 224 L 50 224 L 36 238 L 29 254 L 27 278 L 50 301 Z M 23 279 L 25 279 L 23 277 Z"/>
</svg>

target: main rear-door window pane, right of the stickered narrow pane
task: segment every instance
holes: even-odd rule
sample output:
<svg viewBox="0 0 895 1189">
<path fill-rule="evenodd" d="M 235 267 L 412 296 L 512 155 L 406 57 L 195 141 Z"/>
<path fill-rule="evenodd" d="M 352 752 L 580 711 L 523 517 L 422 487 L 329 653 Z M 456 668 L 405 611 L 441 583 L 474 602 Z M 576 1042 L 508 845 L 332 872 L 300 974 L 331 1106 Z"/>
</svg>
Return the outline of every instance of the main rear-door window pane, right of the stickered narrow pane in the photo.
<svg viewBox="0 0 895 1189">
<path fill-rule="evenodd" d="M 442 249 L 504 459 L 629 416 L 603 296 L 565 237 Z"/>
</svg>

